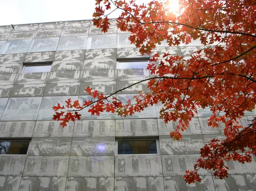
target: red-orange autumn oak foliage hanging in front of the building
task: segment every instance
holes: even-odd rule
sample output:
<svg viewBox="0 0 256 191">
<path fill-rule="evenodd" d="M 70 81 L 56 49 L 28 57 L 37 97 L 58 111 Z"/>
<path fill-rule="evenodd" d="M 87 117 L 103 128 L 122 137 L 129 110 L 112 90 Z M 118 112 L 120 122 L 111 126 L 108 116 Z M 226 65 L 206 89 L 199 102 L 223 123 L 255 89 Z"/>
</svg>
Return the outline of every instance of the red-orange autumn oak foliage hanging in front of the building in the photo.
<svg viewBox="0 0 256 191">
<path fill-rule="evenodd" d="M 256 155 L 256 120 L 247 127 L 238 124 L 244 112 L 256 105 L 256 2 L 179 0 L 176 13 L 169 11 L 170 6 L 168 0 L 152 0 L 147 5 L 137 5 L 135 0 L 96 0 L 93 24 L 107 32 L 110 23 L 106 10 L 122 10 L 117 27 L 131 33 L 130 42 L 142 54 L 150 54 L 161 42 L 177 46 L 199 40 L 205 46 L 189 58 L 153 55 L 147 67 L 153 77 L 146 80 L 151 93 L 122 103 L 115 96 L 122 90 L 105 96 L 88 87 L 85 91 L 92 96 L 91 101 L 69 99 L 66 106 L 58 104 L 53 119 L 65 127 L 70 120 L 80 119 L 79 111 L 85 107 L 92 115 L 105 111 L 126 117 L 162 104 L 160 117 L 165 123 L 179 121 L 170 133 L 179 140 L 198 108 L 209 107 L 209 126 L 224 123 L 226 138 L 214 138 L 206 144 L 195 169 L 187 170 L 184 178 L 188 183 L 200 181 L 198 170 L 206 169 L 222 179 L 228 176 L 226 161 L 250 162 Z"/>
</svg>

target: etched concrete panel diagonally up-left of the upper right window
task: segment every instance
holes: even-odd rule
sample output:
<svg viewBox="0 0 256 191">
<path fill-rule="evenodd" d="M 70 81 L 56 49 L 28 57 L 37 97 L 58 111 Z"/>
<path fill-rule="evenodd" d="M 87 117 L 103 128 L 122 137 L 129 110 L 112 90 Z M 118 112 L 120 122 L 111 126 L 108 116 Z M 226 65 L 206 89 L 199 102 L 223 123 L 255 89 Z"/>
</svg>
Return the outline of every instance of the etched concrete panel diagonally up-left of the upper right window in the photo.
<svg viewBox="0 0 256 191">
<path fill-rule="evenodd" d="M 103 58 L 116 58 L 116 49 L 95 49 L 86 50 L 85 59 L 103 59 Z"/>
</svg>

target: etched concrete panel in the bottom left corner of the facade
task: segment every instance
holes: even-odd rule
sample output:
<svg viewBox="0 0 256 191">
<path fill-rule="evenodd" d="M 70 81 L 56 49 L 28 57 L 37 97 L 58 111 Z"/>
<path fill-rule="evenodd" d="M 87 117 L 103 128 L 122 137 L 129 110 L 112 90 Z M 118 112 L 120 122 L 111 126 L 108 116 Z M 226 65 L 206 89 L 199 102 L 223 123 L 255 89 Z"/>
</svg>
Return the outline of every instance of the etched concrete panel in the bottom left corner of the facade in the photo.
<svg viewBox="0 0 256 191">
<path fill-rule="evenodd" d="M 21 176 L 0 176 L 0 191 L 18 191 Z"/>
</svg>

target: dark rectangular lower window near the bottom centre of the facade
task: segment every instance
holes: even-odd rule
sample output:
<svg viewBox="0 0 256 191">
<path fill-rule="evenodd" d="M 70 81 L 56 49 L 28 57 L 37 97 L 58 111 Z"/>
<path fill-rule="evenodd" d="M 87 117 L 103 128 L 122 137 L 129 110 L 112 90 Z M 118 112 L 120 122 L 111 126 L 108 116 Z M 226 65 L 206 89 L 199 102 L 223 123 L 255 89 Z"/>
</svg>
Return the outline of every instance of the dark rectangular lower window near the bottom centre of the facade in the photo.
<svg viewBox="0 0 256 191">
<path fill-rule="evenodd" d="M 157 154 L 156 140 L 120 140 L 118 155 Z"/>
</svg>

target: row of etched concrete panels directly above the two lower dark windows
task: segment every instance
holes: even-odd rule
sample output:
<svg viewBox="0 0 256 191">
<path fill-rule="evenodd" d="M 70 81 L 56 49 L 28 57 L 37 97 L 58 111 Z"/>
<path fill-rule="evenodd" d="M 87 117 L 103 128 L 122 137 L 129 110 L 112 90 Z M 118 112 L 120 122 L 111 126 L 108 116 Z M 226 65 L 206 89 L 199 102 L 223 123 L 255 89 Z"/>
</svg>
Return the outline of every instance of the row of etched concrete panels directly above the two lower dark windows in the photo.
<svg viewBox="0 0 256 191">
<path fill-rule="evenodd" d="M 209 117 L 194 117 L 183 135 L 201 135 L 205 139 L 212 136 L 222 138 L 224 124 L 208 126 Z M 253 117 L 243 117 L 241 125 L 246 127 Z M 58 121 L 0 121 L 0 137 L 136 137 L 169 135 L 178 122 L 165 124 L 163 119 L 107 119 L 77 120 L 62 128 Z M 209 134 L 209 135 L 206 135 Z M 214 135 L 210 135 L 214 134 Z"/>
</svg>

